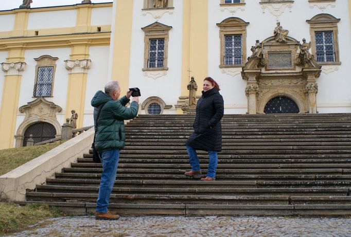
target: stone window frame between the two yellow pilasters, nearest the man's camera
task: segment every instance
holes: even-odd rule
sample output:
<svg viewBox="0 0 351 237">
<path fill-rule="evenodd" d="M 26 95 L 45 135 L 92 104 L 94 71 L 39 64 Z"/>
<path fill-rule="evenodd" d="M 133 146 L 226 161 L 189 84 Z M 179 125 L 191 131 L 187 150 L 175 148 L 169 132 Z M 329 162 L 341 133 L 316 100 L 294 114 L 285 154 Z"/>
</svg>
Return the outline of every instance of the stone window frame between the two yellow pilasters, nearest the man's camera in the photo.
<svg viewBox="0 0 351 237">
<path fill-rule="evenodd" d="M 159 22 L 154 22 L 151 25 L 143 27 L 144 31 L 144 68 L 143 71 L 165 71 L 168 70 L 168 41 L 169 41 L 169 30 L 171 26 L 164 25 Z M 148 67 L 149 59 L 149 44 L 152 39 L 164 39 L 164 61 L 163 67 Z"/>
</svg>

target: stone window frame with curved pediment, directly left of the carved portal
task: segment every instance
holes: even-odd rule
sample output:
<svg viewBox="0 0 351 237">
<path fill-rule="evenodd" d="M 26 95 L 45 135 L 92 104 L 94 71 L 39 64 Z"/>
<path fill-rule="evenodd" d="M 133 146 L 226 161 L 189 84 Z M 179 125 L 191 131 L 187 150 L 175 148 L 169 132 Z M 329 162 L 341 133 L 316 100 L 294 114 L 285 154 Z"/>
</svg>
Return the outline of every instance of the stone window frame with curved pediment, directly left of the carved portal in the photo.
<svg viewBox="0 0 351 237">
<path fill-rule="evenodd" d="M 223 20 L 221 23 L 216 25 L 219 27 L 219 38 L 220 38 L 220 68 L 233 68 L 233 67 L 242 67 L 247 62 L 247 53 L 246 53 L 246 39 L 247 39 L 247 26 L 249 22 L 245 22 L 238 17 L 229 17 Z M 232 34 L 241 34 L 242 39 L 242 63 L 234 65 L 225 65 L 224 64 L 224 41 L 225 35 Z"/>
</svg>

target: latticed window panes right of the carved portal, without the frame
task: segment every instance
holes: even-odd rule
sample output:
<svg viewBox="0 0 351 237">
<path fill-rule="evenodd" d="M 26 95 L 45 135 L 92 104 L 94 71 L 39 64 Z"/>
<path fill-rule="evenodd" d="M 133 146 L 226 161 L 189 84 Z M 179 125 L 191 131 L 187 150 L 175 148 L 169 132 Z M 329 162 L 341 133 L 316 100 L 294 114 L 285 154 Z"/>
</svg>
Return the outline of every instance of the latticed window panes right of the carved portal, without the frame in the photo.
<svg viewBox="0 0 351 237">
<path fill-rule="evenodd" d="M 334 37 L 332 31 L 315 32 L 317 62 L 335 62 Z"/>
</svg>

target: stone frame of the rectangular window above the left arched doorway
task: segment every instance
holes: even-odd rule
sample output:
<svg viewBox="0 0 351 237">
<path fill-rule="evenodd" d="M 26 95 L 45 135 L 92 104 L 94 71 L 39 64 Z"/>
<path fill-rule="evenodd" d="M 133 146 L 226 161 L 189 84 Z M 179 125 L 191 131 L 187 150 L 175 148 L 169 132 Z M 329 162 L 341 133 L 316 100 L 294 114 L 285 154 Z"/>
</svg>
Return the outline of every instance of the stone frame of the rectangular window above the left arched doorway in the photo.
<svg viewBox="0 0 351 237">
<path fill-rule="evenodd" d="M 55 71 L 56 71 L 56 60 L 58 60 L 59 58 L 54 58 L 51 57 L 49 55 L 43 55 L 40 56 L 39 58 L 34 58 L 34 60 L 37 61 L 37 65 L 36 65 L 36 77 L 35 77 L 35 81 L 34 81 L 34 88 L 33 88 L 33 98 L 38 98 L 41 96 L 37 96 L 36 95 L 36 87 L 38 84 L 38 75 L 39 75 L 39 68 L 40 67 L 52 67 L 52 80 L 51 80 L 51 91 L 50 91 L 50 95 L 49 96 L 45 96 L 45 97 L 52 97 L 53 94 L 53 90 L 54 90 L 54 82 L 55 82 Z"/>
</svg>

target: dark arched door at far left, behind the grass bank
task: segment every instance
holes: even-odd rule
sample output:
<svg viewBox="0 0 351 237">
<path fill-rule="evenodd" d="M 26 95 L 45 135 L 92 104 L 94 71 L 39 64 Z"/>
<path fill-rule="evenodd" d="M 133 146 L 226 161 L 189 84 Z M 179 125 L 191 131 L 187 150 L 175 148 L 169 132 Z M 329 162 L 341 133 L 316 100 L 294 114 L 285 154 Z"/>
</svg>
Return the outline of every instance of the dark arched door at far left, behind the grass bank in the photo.
<svg viewBox="0 0 351 237">
<path fill-rule="evenodd" d="M 30 125 L 24 133 L 23 147 L 27 146 L 27 140 L 33 135 L 34 143 L 54 139 L 56 135 L 56 129 L 54 125 L 46 122 L 39 122 Z"/>
</svg>

